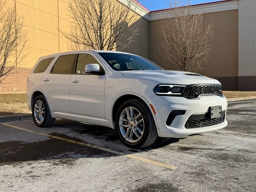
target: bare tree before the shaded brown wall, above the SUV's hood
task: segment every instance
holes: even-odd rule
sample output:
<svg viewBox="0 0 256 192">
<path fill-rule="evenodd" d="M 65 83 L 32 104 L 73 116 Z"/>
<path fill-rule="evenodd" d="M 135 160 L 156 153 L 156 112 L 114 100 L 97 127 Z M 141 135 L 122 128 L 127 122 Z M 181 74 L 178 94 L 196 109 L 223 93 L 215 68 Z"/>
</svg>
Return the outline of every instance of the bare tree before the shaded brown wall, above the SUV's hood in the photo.
<svg viewBox="0 0 256 192">
<path fill-rule="evenodd" d="M 204 14 L 190 6 L 170 1 L 168 18 L 162 18 L 160 33 L 164 42 L 159 46 L 166 61 L 183 71 L 204 69 L 211 49 L 213 23 L 205 21 Z"/>
</svg>

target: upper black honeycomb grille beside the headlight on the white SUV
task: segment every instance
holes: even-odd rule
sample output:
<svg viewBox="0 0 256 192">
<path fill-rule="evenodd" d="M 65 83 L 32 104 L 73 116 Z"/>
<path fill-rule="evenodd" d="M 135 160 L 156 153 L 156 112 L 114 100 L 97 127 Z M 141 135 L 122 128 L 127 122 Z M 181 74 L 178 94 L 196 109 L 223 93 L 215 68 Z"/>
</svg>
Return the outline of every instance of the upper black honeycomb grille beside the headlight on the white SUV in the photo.
<svg viewBox="0 0 256 192">
<path fill-rule="evenodd" d="M 192 99 L 198 98 L 200 95 L 217 94 L 222 95 L 222 88 L 219 84 L 199 84 L 189 85 L 184 91 L 183 96 Z"/>
</svg>

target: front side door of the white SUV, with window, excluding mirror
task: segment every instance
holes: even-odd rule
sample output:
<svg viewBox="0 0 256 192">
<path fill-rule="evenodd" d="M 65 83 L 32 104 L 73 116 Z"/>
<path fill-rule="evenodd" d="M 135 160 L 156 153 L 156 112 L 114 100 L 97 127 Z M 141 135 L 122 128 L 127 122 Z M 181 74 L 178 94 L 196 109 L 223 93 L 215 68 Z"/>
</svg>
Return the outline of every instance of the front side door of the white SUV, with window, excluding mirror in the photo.
<svg viewBox="0 0 256 192">
<path fill-rule="evenodd" d="M 100 60 L 86 52 L 78 53 L 74 74 L 70 78 L 70 110 L 72 114 L 105 118 L 106 69 Z M 84 72 L 86 64 L 99 64 L 104 75 Z"/>
</svg>

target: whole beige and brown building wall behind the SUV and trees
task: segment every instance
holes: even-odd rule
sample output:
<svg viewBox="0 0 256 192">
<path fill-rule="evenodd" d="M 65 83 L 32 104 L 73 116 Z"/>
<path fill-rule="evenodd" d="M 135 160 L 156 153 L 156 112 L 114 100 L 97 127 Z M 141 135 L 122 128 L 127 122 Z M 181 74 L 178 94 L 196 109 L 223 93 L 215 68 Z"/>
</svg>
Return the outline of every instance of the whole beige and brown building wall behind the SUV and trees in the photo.
<svg viewBox="0 0 256 192">
<path fill-rule="evenodd" d="M 39 57 L 74 50 L 57 29 L 70 31 L 67 3 L 68 0 L 8 0 L 24 16 L 29 54 L 1 79 L 0 92 L 26 91 L 28 74 Z M 226 0 L 194 8 L 202 10 L 205 19 L 214 22 L 210 58 L 206 68 L 198 73 L 220 80 L 224 90 L 256 90 L 256 0 Z M 159 46 L 163 43 L 160 19 L 166 18 L 166 11 L 149 12 L 137 5 L 136 13 L 142 17 L 140 33 L 132 45 L 118 50 L 141 55 L 167 70 L 175 70 L 162 59 Z"/>
</svg>

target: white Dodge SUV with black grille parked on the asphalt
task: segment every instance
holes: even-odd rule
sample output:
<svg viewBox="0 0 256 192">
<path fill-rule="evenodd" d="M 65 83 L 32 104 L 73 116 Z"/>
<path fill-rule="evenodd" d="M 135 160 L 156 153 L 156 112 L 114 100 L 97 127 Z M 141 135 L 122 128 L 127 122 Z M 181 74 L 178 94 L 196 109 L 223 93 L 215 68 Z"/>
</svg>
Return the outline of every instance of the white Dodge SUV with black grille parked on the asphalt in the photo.
<svg viewBox="0 0 256 192">
<path fill-rule="evenodd" d="M 28 78 L 37 126 L 63 118 L 116 129 L 128 147 L 227 126 L 220 82 L 133 54 L 84 50 L 39 58 Z"/>
</svg>

